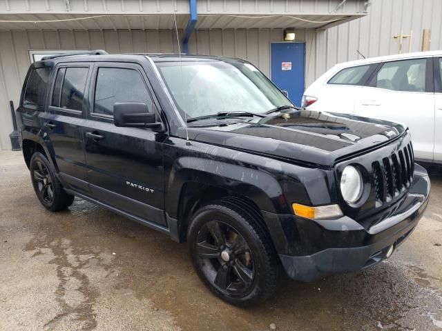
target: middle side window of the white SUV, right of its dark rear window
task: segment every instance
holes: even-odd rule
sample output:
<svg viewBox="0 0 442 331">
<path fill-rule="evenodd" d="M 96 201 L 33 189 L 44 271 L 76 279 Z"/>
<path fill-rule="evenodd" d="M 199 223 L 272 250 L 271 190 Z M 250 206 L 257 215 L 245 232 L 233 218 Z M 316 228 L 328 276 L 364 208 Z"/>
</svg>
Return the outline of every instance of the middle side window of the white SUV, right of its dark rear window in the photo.
<svg viewBox="0 0 442 331">
<path fill-rule="evenodd" d="M 425 92 L 426 59 L 386 62 L 374 77 L 376 88 L 405 92 Z"/>
</svg>

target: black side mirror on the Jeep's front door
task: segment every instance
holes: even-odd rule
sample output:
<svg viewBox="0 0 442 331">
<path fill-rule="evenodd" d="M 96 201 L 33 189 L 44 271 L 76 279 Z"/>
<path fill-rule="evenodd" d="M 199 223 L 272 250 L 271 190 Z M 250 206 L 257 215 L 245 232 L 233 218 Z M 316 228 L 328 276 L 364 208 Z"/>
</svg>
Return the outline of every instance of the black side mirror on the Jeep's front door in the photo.
<svg viewBox="0 0 442 331">
<path fill-rule="evenodd" d="M 115 126 L 130 128 L 160 128 L 153 112 L 148 112 L 146 103 L 117 102 L 113 105 L 113 123 Z"/>
</svg>

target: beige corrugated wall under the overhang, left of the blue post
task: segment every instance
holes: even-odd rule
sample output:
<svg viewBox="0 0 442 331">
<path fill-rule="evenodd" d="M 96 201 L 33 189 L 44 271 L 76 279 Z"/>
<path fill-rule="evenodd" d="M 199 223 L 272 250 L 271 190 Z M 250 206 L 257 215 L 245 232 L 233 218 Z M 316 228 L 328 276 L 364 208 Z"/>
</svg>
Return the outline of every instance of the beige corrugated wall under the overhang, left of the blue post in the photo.
<svg viewBox="0 0 442 331">
<path fill-rule="evenodd" d="M 0 32 L 0 149 L 10 148 L 9 100 L 17 108 L 30 65 L 29 50 L 104 49 L 110 53 L 178 52 L 176 34 L 164 31 L 8 31 Z"/>
</svg>

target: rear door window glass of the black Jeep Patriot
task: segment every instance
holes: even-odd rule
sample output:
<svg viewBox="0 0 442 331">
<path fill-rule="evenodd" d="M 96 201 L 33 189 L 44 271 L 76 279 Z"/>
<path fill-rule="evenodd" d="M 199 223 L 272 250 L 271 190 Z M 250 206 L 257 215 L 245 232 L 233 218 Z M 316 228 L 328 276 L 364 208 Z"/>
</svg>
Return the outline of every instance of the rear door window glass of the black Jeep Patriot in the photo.
<svg viewBox="0 0 442 331">
<path fill-rule="evenodd" d="M 66 68 L 60 95 L 60 108 L 82 110 L 89 68 Z M 57 73 L 57 79 L 58 74 Z M 56 86 L 57 86 L 56 79 Z M 55 92 L 55 91 L 54 91 Z"/>
</svg>

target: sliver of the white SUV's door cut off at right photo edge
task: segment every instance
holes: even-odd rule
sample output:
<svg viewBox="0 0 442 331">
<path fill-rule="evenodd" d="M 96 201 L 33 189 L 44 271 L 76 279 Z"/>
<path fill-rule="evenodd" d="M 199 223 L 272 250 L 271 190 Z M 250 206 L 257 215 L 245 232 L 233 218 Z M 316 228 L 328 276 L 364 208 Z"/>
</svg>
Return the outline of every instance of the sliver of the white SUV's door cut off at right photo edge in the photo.
<svg viewBox="0 0 442 331">
<path fill-rule="evenodd" d="M 442 162 L 442 57 L 434 57 L 434 161 Z"/>
</svg>

